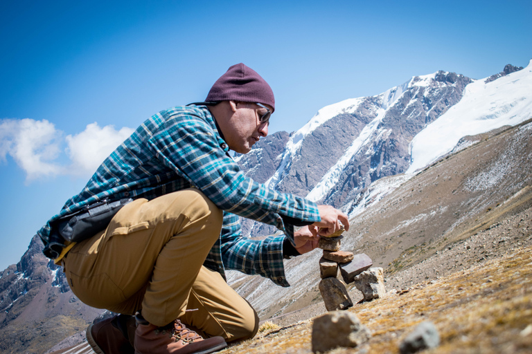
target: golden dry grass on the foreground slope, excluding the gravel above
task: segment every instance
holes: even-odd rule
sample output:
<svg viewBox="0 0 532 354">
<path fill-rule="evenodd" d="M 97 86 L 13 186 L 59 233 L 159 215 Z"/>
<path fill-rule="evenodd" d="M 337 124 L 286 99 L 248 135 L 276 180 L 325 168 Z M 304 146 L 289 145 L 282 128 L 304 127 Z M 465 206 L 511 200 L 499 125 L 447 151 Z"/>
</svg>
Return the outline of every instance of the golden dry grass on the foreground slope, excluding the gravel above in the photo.
<svg viewBox="0 0 532 354">
<path fill-rule="evenodd" d="M 373 332 L 358 348 L 330 353 L 398 353 L 416 324 L 434 322 L 441 345 L 424 353 L 532 353 L 532 248 L 418 283 L 349 310 Z M 526 328 L 529 328 L 528 330 Z M 264 331 L 221 353 L 312 353 L 312 321 Z"/>
</svg>

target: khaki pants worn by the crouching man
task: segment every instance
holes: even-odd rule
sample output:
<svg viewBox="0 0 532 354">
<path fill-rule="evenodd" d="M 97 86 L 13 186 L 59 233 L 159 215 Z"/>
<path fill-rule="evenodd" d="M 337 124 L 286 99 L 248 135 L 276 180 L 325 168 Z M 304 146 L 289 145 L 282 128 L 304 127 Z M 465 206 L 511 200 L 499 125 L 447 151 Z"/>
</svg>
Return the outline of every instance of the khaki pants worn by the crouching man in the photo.
<svg viewBox="0 0 532 354">
<path fill-rule="evenodd" d="M 137 199 L 70 250 L 65 274 L 89 306 L 141 310 L 156 326 L 179 318 L 207 336 L 247 339 L 258 328 L 255 310 L 202 265 L 221 227 L 222 211 L 197 189 Z"/>
</svg>

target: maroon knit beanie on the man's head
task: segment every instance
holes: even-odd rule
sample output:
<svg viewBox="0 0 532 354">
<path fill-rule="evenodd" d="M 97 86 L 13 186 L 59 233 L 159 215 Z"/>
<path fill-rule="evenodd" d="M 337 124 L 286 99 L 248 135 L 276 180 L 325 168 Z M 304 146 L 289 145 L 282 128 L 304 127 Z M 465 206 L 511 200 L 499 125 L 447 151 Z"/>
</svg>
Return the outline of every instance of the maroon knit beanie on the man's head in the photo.
<svg viewBox="0 0 532 354">
<path fill-rule="evenodd" d="M 275 110 L 272 88 L 258 73 L 242 63 L 231 66 L 220 79 L 216 80 L 205 100 L 256 102 L 269 104 Z"/>
</svg>

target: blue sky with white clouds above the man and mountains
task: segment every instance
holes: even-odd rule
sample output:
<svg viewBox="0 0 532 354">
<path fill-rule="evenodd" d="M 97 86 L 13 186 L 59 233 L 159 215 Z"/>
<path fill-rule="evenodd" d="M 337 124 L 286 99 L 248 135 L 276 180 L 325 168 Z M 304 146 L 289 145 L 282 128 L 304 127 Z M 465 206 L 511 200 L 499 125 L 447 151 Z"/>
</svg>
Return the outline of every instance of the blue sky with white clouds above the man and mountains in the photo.
<svg viewBox="0 0 532 354">
<path fill-rule="evenodd" d="M 270 132 L 438 70 L 532 57 L 532 1 L 0 2 L 0 270 L 150 115 L 243 62 L 276 95 Z M 105 157 L 105 156 L 104 156 Z"/>
</svg>

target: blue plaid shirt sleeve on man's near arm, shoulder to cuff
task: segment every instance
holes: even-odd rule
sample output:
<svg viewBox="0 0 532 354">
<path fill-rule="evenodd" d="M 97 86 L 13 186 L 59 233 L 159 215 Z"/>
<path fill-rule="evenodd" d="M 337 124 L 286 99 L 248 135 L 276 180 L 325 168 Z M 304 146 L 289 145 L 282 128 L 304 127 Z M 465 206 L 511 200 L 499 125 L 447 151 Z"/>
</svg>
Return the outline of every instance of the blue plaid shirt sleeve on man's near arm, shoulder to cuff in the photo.
<svg viewBox="0 0 532 354">
<path fill-rule="evenodd" d="M 292 240 L 293 224 L 287 220 L 320 220 L 312 201 L 276 192 L 245 176 L 227 155 L 227 145 L 218 133 L 196 111 L 197 115 L 163 113 L 164 122 L 149 142 L 164 165 L 186 178 L 220 209 L 274 225 Z"/>
</svg>

